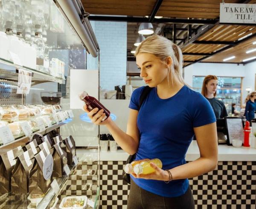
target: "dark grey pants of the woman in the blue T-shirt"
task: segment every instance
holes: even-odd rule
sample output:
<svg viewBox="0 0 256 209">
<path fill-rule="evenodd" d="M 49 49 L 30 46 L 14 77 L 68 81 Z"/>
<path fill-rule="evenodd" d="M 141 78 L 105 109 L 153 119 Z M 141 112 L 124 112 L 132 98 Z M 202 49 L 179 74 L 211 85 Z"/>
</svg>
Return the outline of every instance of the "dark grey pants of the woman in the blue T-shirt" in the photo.
<svg viewBox="0 0 256 209">
<path fill-rule="evenodd" d="M 127 209 L 195 209 L 195 202 L 190 186 L 179 197 L 162 197 L 141 189 L 131 179 Z"/>
</svg>

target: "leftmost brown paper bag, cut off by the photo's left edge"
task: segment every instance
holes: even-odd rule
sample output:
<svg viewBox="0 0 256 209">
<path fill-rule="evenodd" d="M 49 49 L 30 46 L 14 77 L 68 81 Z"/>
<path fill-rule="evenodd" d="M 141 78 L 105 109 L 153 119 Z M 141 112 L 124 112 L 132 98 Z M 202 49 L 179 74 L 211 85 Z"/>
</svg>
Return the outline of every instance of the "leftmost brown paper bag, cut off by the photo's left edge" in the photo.
<svg viewBox="0 0 256 209">
<path fill-rule="evenodd" d="M 21 147 L 0 155 L 0 193 L 11 192 L 11 176 L 17 156 L 23 153 Z"/>
</svg>

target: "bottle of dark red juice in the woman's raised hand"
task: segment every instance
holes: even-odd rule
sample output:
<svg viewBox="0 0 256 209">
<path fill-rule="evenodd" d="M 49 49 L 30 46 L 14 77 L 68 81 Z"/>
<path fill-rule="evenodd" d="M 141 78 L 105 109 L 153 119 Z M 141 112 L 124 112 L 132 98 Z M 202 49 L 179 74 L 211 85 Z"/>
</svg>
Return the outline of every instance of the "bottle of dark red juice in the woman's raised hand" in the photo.
<svg viewBox="0 0 256 209">
<path fill-rule="evenodd" d="M 99 110 L 103 109 L 103 113 L 106 114 L 103 120 L 107 119 L 110 116 L 110 111 L 106 107 L 104 107 L 96 98 L 94 98 L 93 96 L 89 96 L 86 91 L 81 93 L 79 97 L 85 102 L 88 110 L 92 110 L 94 108 L 98 108 Z"/>
</svg>

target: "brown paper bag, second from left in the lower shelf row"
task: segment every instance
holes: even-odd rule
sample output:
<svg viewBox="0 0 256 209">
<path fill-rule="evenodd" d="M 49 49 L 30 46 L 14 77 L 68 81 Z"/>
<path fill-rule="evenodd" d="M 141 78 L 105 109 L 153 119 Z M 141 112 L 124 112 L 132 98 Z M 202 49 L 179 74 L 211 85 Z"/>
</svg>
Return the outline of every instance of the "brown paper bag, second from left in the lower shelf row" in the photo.
<svg viewBox="0 0 256 209">
<path fill-rule="evenodd" d="M 34 163 L 32 149 L 24 152 L 17 157 L 15 168 L 12 171 L 11 191 L 15 194 L 29 192 L 29 172 Z"/>
</svg>

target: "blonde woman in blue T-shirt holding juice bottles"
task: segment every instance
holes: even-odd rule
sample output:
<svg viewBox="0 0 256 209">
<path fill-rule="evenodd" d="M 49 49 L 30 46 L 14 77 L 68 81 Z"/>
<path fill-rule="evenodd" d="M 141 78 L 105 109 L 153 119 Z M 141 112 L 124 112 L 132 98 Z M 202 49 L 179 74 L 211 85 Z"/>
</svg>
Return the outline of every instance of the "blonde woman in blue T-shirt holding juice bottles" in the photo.
<svg viewBox="0 0 256 209">
<path fill-rule="evenodd" d="M 212 171 L 218 162 L 216 118 L 209 102 L 185 85 L 182 77 L 182 52 L 168 39 L 153 35 L 136 49 L 136 63 L 146 84 L 151 87 L 140 111 L 140 94 L 132 93 L 130 115 L 124 133 L 102 110 L 84 110 L 96 125 L 106 125 L 113 138 L 135 160 L 159 158 L 153 174 L 132 174 L 128 209 L 195 207 L 188 178 Z M 95 115 L 94 115 L 95 114 Z M 185 155 L 196 136 L 200 157 L 186 163 Z"/>
</svg>

